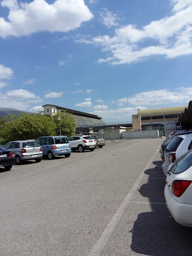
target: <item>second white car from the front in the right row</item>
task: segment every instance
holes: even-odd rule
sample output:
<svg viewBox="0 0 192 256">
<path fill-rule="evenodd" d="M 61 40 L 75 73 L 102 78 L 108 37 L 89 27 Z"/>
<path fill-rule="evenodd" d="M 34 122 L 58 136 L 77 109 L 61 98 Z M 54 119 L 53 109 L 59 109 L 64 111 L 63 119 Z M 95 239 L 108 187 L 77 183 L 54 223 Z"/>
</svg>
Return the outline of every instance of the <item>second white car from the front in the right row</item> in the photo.
<svg viewBox="0 0 192 256">
<path fill-rule="evenodd" d="M 164 150 L 164 163 L 162 171 L 167 176 L 168 167 L 170 164 L 180 158 L 188 150 L 192 148 L 192 134 L 184 134 L 175 136 L 175 138 L 166 146 Z"/>
</svg>

